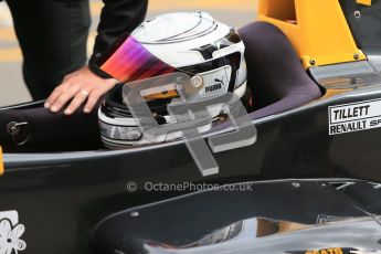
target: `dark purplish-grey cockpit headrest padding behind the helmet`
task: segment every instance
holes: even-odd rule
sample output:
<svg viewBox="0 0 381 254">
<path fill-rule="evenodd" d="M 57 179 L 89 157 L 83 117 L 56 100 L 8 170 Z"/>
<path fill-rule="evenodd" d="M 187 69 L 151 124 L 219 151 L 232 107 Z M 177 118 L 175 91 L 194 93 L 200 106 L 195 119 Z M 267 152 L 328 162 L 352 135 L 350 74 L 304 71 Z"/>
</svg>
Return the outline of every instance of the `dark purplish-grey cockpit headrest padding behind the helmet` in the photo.
<svg viewBox="0 0 381 254">
<path fill-rule="evenodd" d="M 239 31 L 246 51 L 252 119 L 286 112 L 321 97 L 287 36 L 267 22 L 253 22 Z"/>
</svg>

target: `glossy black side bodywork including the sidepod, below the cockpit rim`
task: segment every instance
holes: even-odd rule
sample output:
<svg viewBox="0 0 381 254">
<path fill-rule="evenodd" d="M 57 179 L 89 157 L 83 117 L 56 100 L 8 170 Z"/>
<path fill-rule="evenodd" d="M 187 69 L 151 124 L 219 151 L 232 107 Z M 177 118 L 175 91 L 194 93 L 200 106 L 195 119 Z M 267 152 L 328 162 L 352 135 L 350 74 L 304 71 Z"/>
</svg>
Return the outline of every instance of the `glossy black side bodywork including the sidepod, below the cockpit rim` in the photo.
<svg viewBox="0 0 381 254">
<path fill-rule="evenodd" d="M 3 212 L 18 213 L 25 229 L 21 254 L 377 253 L 381 128 L 329 135 L 329 107 L 381 100 L 381 75 L 366 61 L 308 74 L 326 96 L 265 117 L 252 113 L 256 142 L 215 154 L 219 174 L 202 177 L 183 140 L 6 154 L 0 221 L 8 220 Z M 205 139 L 227 131 L 214 130 Z M 240 189 L 242 182 L 251 189 Z M 203 183 L 233 190 L 147 190 Z"/>
</svg>

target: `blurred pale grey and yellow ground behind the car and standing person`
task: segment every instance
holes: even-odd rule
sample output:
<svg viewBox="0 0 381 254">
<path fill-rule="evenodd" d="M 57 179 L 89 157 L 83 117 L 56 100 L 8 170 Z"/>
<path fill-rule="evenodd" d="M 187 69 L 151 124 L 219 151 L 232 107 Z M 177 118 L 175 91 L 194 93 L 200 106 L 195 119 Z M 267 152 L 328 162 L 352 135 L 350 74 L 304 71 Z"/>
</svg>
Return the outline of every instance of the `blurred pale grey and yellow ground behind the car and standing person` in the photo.
<svg viewBox="0 0 381 254">
<path fill-rule="evenodd" d="M 149 0 L 147 19 L 173 11 L 207 11 L 215 19 L 241 28 L 255 19 L 257 0 Z M 96 25 L 103 8 L 100 0 L 91 0 L 93 24 L 87 49 L 93 49 Z M 91 52 L 88 52 L 91 54 Z M 21 74 L 22 55 L 6 3 L 0 3 L 0 106 L 30 102 Z"/>
</svg>

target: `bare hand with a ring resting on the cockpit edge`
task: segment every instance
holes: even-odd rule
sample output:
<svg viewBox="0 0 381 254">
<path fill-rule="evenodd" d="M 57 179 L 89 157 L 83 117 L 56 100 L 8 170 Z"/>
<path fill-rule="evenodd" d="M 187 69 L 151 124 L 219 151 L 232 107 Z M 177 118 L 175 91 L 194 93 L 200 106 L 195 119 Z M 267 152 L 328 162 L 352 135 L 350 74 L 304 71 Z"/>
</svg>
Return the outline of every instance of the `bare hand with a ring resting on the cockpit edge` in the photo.
<svg viewBox="0 0 381 254">
<path fill-rule="evenodd" d="M 87 66 L 66 75 L 49 96 L 45 108 L 57 113 L 68 100 L 72 99 L 65 115 L 72 115 L 82 104 L 86 103 L 84 113 L 93 110 L 98 99 L 114 87 L 114 78 L 104 80 L 95 75 Z"/>
</svg>

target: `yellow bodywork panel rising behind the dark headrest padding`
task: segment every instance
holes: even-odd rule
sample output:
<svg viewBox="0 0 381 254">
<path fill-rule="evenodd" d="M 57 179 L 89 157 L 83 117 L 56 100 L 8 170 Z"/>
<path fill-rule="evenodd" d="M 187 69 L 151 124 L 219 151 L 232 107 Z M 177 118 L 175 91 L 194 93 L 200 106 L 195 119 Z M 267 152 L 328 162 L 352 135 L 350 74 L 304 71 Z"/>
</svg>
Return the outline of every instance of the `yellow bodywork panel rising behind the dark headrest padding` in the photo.
<svg viewBox="0 0 381 254">
<path fill-rule="evenodd" d="M 288 36 L 306 68 L 366 60 L 339 0 L 260 0 L 258 20 Z"/>
</svg>

